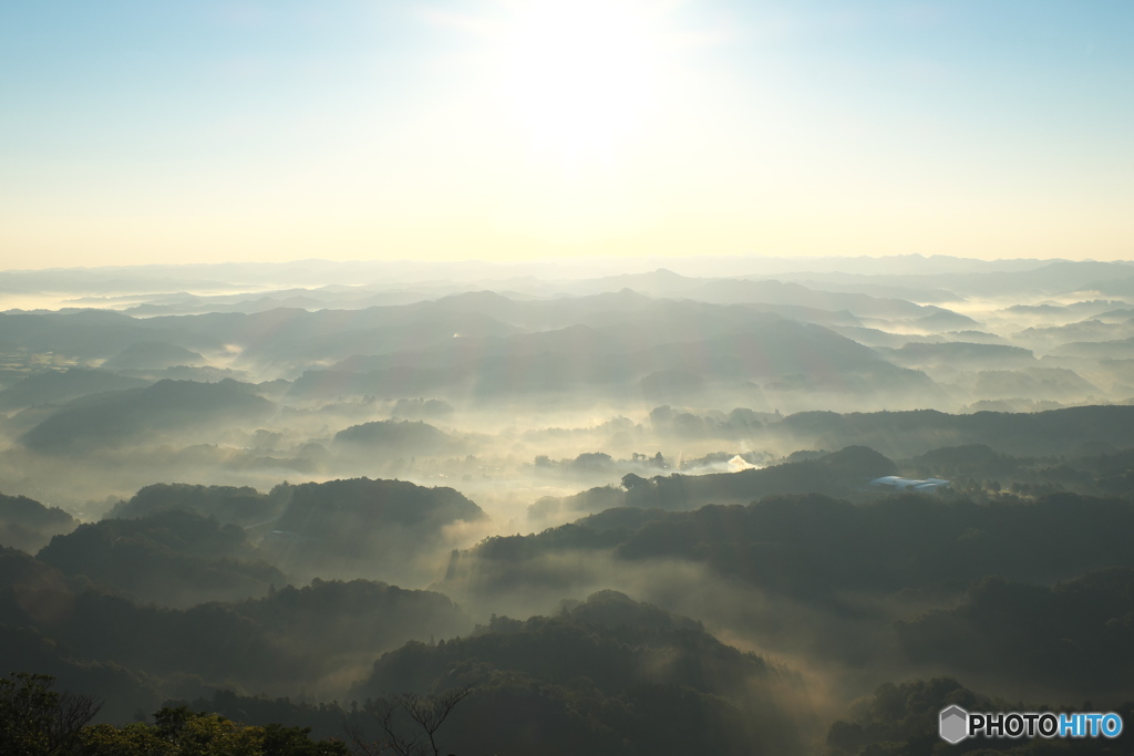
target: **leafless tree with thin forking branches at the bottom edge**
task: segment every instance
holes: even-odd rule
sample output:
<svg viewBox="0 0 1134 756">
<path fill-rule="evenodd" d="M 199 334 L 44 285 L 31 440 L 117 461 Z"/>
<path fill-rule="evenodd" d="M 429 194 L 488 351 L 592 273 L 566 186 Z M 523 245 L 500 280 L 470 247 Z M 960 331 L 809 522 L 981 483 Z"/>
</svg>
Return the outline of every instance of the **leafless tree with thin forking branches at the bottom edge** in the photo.
<svg viewBox="0 0 1134 756">
<path fill-rule="evenodd" d="M 366 711 L 378 720 L 380 740 L 367 741 L 362 731 L 346 725 L 347 734 L 364 756 L 392 751 L 397 756 L 440 756 L 437 731 L 462 700 L 473 691 L 466 685 L 440 694 L 405 693 L 369 702 Z"/>
</svg>

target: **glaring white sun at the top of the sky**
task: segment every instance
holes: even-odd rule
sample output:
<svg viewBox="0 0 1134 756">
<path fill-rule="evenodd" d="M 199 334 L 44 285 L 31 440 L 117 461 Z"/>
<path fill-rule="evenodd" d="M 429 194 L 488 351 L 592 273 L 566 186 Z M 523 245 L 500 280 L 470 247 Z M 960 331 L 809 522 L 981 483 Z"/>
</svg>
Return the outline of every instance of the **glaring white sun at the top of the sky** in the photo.
<svg viewBox="0 0 1134 756">
<path fill-rule="evenodd" d="M 655 14 L 631 0 L 533 0 L 499 37 L 503 104 L 534 148 L 610 158 L 643 126 L 660 78 Z"/>
</svg>

